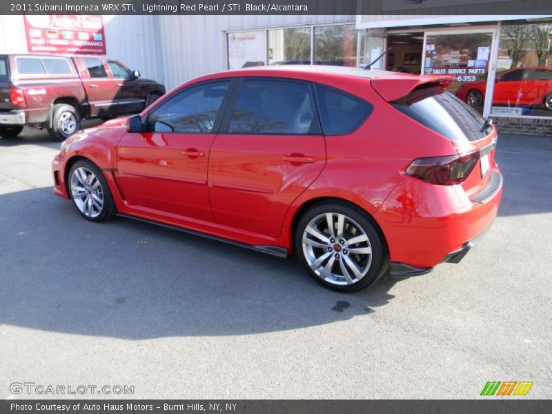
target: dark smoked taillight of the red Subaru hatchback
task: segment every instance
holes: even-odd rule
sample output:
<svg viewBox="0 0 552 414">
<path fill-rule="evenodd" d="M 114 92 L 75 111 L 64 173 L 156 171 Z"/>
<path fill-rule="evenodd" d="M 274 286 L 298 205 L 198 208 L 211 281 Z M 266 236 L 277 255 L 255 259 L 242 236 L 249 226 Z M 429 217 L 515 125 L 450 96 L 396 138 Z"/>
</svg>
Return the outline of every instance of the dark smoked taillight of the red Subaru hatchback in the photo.
<svg viewBox="0 0 552 414">
<path fill-rule="evenodd" d="M 433 184 L 453 186 L 464 181 L 479 161 L 479 151 L 466 155 L 418 158 L 406 168 L 406 174 Z"/>
</svg>

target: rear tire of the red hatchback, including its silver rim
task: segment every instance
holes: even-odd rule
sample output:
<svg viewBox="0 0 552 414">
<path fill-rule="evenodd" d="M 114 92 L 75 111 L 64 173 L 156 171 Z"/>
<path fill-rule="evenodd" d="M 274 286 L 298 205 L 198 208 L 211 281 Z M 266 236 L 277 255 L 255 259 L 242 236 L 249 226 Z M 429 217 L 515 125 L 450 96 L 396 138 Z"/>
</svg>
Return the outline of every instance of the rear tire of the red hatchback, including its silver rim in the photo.
<svg viewBox="0 0 552 414">
<path fill-rule="evenodd" d="M 328 217 L 333 222 L 333 234 Z M 339 238 L 341 220 L 343 237 Z M 308 273 L 334 290 L 353 292 L 367 288 L 389 267 L 380 230 L 363 210 L 346 202 L 317 204 L 306 211 L 297 223 L 294 238 L 299 261 Z M 351 244 L 353 239 L 357 242 Z"/>
</svg>

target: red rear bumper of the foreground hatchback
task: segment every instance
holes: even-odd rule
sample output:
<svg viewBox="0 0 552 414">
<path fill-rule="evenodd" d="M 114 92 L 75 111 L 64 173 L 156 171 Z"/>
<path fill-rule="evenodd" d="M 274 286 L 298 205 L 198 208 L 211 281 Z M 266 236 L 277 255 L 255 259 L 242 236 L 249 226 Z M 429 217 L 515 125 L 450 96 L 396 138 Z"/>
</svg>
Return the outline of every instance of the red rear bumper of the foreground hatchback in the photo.
<svg viewBox="0 0 552 414">
<path fill-rule="evenodd" d="M 497 168 L 492 173 L 495 178 L 471 199 L 461 186 L 408 176 L 400 181 L 373 215 L 386 237 L 393 275 L 423 274 L 442 262 L 460 262 L 497 215 L 502 176 Z"/>
</svg>

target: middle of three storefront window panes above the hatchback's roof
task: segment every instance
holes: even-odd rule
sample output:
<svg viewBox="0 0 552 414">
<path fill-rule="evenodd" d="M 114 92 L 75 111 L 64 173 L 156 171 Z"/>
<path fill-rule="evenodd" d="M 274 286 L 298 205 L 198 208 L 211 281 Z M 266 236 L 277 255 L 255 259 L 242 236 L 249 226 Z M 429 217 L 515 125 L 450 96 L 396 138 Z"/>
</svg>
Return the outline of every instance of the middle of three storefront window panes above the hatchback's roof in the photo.
<svg viewBox="0 0 552 414">
<path fill-rule="evenodd" d="M 311 63 L 311 28 L 268 30 L 269 65 Z"/>
</svg>

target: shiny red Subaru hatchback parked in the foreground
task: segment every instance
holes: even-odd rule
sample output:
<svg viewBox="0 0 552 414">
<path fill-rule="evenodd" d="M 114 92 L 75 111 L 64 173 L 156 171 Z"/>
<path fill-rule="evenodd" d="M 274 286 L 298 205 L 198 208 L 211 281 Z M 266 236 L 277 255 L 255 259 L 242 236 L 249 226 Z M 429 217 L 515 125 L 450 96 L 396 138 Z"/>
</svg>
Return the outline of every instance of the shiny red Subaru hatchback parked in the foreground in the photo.
<svg viewBox="0 0 552 414">
<path fill-rule="evenodd" d="M 295 252 L 338 290 L 457 263 L 491 225 L 496 131 L 449 79 L 328 66 L 207 75 L 68 139 L 55 192 L 116 215 Z"/>
</svg>

